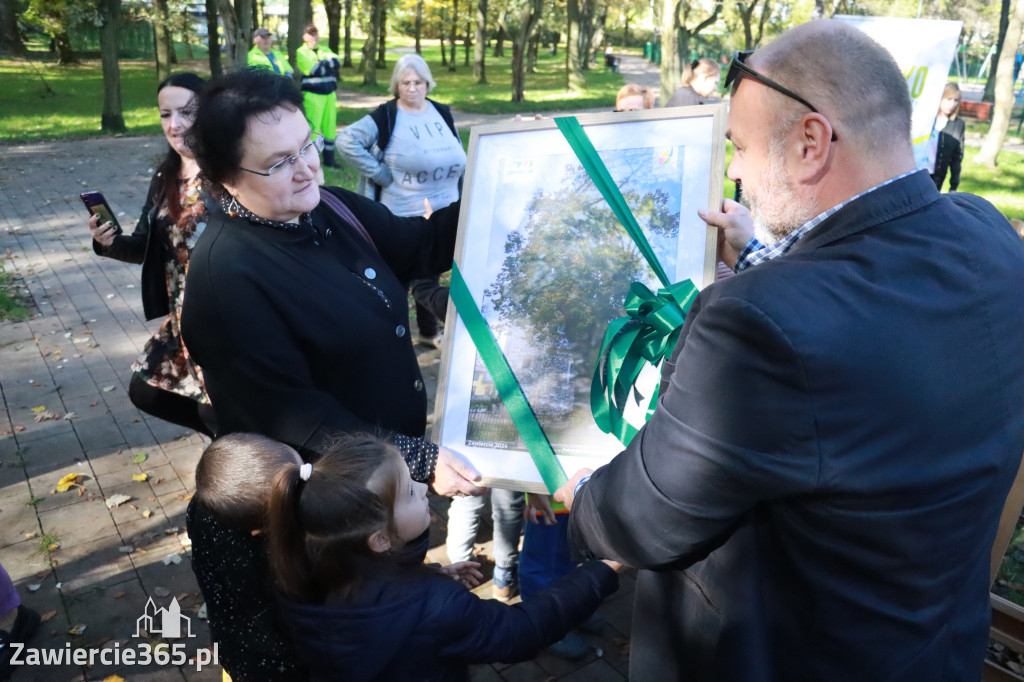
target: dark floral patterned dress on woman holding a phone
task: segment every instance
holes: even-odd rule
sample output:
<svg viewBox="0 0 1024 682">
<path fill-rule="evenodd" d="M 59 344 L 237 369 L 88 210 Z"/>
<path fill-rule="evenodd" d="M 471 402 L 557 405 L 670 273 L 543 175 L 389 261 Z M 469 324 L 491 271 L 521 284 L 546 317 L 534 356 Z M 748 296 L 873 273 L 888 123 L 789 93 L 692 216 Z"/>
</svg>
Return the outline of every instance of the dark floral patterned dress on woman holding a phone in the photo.
<svg viewBox="0 0 1024 682">
<path fill-rule="evenodd" d="M 177 222 L 171 219 L 166 208 L 162 208 L 153 225 L 151 239 L 163 242 L 166 255 L 164 279 L 171 313 L 146 341 L 131 369 L 151 386 L 209 403 L 203 387 L 203 372 L 188 356 L 181 340 L 181 303 L 188 274 L 188 256 L 206 227 L 206 207 L 200 196 L 200 185 L 198 176 L 181 180 L 178 191 L 181 213 Z"/>
</svg>

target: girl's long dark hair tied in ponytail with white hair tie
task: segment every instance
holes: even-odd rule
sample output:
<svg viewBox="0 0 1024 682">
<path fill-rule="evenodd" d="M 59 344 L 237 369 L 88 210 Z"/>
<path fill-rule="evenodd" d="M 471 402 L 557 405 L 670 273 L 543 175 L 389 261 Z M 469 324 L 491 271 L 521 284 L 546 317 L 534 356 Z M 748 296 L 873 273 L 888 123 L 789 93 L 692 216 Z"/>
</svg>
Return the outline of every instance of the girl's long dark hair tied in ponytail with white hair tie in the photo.
<svg viewBox="0 0 1024 682">
<path fill-rule="evenodd" d="M 370 548 L 377 531 L 393 535 L 402 460 L 392 445 L 367 434 L 345 436 L 312 464 L 273 481 L 267 523 L 270 565 L 289 599 L 319 604 L 349 598 L 364 579 L 390 564 Z"/>
</svg>

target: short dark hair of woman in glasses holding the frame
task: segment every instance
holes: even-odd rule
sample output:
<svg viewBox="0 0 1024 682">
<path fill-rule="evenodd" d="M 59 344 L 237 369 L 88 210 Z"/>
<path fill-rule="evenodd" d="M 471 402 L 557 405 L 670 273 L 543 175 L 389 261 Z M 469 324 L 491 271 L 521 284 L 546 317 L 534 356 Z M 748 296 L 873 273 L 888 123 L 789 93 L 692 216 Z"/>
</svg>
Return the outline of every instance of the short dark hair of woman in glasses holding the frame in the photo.
<svg viewBox="0 0 1024 682">
<path fill-rule="evenodd" d="M 302 112 L 302 93 L 292 79 L 268 69 L 240 69 L 212 81 L 199 96 L 185 135 L 206 179 L 214 185 L 233 179 L 249 122 L 281 106 Z"/>
</svg>

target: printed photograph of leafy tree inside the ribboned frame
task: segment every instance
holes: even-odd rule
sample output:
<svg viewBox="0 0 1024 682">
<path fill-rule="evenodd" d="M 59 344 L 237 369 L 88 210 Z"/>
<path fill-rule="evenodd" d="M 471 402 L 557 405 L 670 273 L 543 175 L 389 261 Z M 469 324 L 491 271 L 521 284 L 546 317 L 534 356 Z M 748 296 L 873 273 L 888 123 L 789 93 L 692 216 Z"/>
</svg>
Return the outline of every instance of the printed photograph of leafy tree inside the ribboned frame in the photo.
<svg viewBox="0 0 1024 682">
<path fill-rule="evenodd" d="M 605 152 L 602 161 L 669 270 L 679 249 L 683 146 Z M 516 213 L 494 236 L 481 311 L 556 453 L 593 454 L 606 436 L 590 414 L 590 382 L 608 323 L 623 315 L 632 282 L 657 280 L 571 155 L 505 161 L 497 215 Z M 540 186 L 527 197 L 517 186 Z M 516 211 L 515 207 L 525 207 Z M 498 263 L 494 261 L 498 260 Z M 522 442 L 477 357 L 467 442 L 517 450 Z"/>
</svg>

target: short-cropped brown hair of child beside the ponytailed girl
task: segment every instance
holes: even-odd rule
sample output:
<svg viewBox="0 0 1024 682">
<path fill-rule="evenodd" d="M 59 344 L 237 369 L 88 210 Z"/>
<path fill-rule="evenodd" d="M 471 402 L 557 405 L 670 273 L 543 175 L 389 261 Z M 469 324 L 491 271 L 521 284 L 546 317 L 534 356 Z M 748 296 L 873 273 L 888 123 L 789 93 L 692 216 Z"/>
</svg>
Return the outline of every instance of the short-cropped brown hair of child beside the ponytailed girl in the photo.
<svg viewBox="0 0 1024 682">
<path fill-rule="evenodd" d="M 266 525 L 270 483 L 296 465 L 295 451 L 256 433 L 231 433 L 214 440 L 196 467 L 196 495 L 221 523 L 239 530 Z"/>
</svg>

